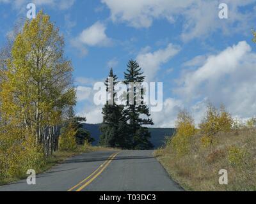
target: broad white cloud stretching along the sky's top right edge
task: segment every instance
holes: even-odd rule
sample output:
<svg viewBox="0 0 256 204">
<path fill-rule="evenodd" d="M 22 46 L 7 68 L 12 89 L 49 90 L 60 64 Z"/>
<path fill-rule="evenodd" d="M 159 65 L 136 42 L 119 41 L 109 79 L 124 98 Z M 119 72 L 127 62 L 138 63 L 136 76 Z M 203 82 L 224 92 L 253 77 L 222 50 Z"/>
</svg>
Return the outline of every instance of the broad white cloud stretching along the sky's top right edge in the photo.
<svg viewBox="0 0 256 204">
<path fill-rule="evenodd" d="M 255 0 L 225 0 L 229 19 L 218 17 L 218 0 L 102 0 L 111 11 L 113 22 L 127 22 L 132 27 L 150 27 L 154 19 L 165 18 L 171 23 L 183 20 L 182 40 L 207 36 L 214 31 L 239 32 L 252 27 L 254 11 L 241 12 L 241 6 L 255 3 Z M 221 2 L 222 3 L 222 2 Z"/>
</svg>

